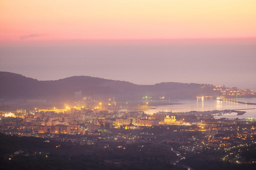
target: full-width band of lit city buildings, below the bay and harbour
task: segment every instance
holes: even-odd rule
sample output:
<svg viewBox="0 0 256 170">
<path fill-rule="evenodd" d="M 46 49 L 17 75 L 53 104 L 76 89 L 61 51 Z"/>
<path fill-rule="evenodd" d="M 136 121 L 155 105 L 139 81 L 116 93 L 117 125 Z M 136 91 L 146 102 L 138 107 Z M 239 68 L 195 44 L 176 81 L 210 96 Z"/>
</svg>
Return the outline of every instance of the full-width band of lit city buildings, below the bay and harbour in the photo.
<svg viewBox="0 0 256 170">
<path fill-rule="evenodd" d="M 74 145 L 97 143 L 97 146 L 104 148 L 126 149 L 131 143 L 151 143 L 149 147 L 153 148 L 154 145 L 164 143 L 179 146 L 183 150 L 183 156 L 188 152 L 221 153 L 226 154 L 223 161 L 256 163 L 256 160 L 243 160 L 239 150 L 255 145 L 256 122 L 206 118 L 212 113 L 214 112 L 187 112 L 175 116 L 171 112 L 149 115 L 142 111 L 109 112 L 85 107 L 63 110 L 53 108 L 52 111 L 35 108 L 34 111 L 2 112 L 0 131 L 19 135 L 51 136 Z M 62 134 L 70 134 L 68 136 L 72 139 L 64 139 L 63 136 L 67 138 L 67 135 Z M 139 147 L 144 147 L 144 144 Z"/>
</svg>

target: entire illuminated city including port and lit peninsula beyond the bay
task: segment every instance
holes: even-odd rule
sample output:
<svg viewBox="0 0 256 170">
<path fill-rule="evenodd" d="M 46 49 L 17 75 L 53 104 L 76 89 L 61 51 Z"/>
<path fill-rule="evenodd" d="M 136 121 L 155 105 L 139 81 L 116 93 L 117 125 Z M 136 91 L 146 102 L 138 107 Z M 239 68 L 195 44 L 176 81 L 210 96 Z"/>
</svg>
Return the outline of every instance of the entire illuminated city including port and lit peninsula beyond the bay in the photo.
<svg viewBox="0 0 256 170">
<path fill-rule="evenodd" d="M 216 118 L 216 116 L 236 113 L 243 116 L 246 111 L 255 111 L 256 103 L 240 102 L 245 95 L 255 96 L 251 90 L 241 90 L 236 87 L 225 88 L 212 85 L 201 86 L 208 88 L 205 96 L 197 96 L 197 107 L 204 108 L 207 101 L 216 102 L 216 110 L 212 111 L 189 111 L 172 112 L 158 111 L 158 105 L 179 105 L 175 99 L 166 99 L 164 96 L 142 96 L 136 101 L 117 101 L 115 97 L 105 100 L 94 100 L 91 96 L 83 96 L 82 91 L 75 91 L 75 100 L 67 103 L 49 103 L 47 100 L 30 99 L 20 105 L 16 111 L 1 111 L 0 128 L 5 135 L 18 135 L 19 137 L 39 137 L 47 143 L 56 141 L 56 148 L 61 148 L 61 143 L 71 143 L 75 146 L 96 146 L 100 150 L 129 150 L 135 146 L 142 149 L 152 150 L 161 147 L 170 150 L 176 156 L 168 158 L 168 164 L 176 168 L 189 169 L 189 158 L 193 154 L 218 155 L 222 163 L 231 164 L 254 164 L 255 157 L 245 156 L 245 151 L 254 150 L 256 145 L 256 121 L 248 117 Z M 215 91 L 219 91 L 216 99 Z M 215 94 L 216 95 L 216 94 Z M 213 99 L 215 98 L 215 99 Z M 251 98 L 254 99 L 254 98 Z M 181 100 L 182 101 L 182 100 Z M 243 109 L 223 109 L 225 104 L 242 105 Z M 199 104 L 200 103 L 200 104 Z M 206 104 L 206 103 L 205 103 Z M 2 104 L 2 108 L 5 104 Z M 249 106 L 250 108 L 247 108 Z M 15 108 L 15 107 L 14 107 Z M 32 109 L 24 109 L 32 108 Z M 236 107 L 234 107 L 236 108 Z M 9 108 L 11 109 L 11 108 Z M 154 113 L 147 113 L 147 111 Z M 150 144 L 150 146 L 147 146 Z M 167 148 L 166 148 L 167 147 Z M 46 158 L 51 158 L 50 153 L 40 151 Z M 134 152 L 134 151 L 133 151 Z M 15 155 L 37 154 L 18 150 L 10 154 L 10 160 Z M 164 155 L 164 154 L 163 154 Z M 163 156 L 162 155 L 162 156 Z M 50 157 L 49 157 L 50 156 Z M 144 155 L 144 159 L 148 158 Z M 170 155 L 169 155 L 170 156 Z M 105 158 L 104 158 L 105 159 Z M 218 160 L 217 159 L 217 160 Z M 158 161 L 163 163 L 162 158 Z M 127 160 L 105 160 L 105 164 L 122 162 L 131 165 Z"/>
</svg>

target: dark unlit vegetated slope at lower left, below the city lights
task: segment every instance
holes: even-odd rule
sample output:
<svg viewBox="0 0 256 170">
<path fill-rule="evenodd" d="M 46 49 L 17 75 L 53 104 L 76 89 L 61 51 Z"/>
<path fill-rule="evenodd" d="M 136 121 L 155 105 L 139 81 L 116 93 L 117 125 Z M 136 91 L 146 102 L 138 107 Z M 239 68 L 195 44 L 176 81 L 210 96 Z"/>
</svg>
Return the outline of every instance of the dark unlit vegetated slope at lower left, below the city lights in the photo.
<svg viewBox="0 0 256 170">
<path fill-rule="evenodd" d="M 184 169 L 170 164 L 173 152 L 150 143 L 123 149 L 45 140 L 0 134 L 0 169 Z"/>
</svg>

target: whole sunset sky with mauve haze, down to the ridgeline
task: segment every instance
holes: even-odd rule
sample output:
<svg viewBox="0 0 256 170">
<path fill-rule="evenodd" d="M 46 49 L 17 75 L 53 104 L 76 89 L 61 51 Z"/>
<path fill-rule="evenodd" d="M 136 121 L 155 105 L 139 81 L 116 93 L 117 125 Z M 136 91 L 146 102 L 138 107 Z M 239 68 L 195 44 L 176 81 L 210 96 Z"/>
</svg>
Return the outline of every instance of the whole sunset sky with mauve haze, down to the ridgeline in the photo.
<svg viewBox="0 0 256 170">
<path fill-rule="evenodd" d="M 0 0 L 0 71 L 256 90 L 255 0 Z"/>
</svg>

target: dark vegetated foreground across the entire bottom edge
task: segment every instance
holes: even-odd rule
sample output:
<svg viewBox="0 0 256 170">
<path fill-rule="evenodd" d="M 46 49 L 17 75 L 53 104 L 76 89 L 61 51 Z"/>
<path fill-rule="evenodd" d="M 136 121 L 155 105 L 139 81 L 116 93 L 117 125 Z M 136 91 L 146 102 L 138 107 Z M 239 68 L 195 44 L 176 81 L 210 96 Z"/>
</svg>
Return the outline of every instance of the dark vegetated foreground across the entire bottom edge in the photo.
<svg viewBox="0 0 256 170">
<path fill-rule="evenodd" d="M 152 130 L 152 129 L 151 129 Z M 183 134 L 184 135 L 184 134 Z M 183 136 L 179 134 L 179 136 Z M 196 136 L 193 132 L 190 135 Z M 175 136 L 172 136 L 176 138 Z M 172 165 L 177 159 L 170 146 L 179 150 L 175 143 L 156 144 L 151 142 L 108 143 L 97 141 L 95 145 L 74 145 L 72 142 L 60 142 L 46 138 L 18 137 L 0 133 L 0 169 L 185 169 L 187 165 L 194 170 L 201 169 L 255 169 L 256 164 L 235 164 L 223 162 L 222 152 L 187 152 L 186 159 Z M 125 146 L 117 148 L 117 145 Z M 57 146 L 57 147 L 56 147 Z M 22 151 L 15 155 L 14 152 Z M 184 155 L 184 151 L 180 150 Z M 242 149 L 246 160 L 255 159 L 255 145 Z"/>
</svg>

